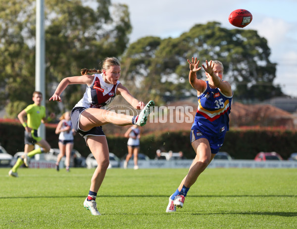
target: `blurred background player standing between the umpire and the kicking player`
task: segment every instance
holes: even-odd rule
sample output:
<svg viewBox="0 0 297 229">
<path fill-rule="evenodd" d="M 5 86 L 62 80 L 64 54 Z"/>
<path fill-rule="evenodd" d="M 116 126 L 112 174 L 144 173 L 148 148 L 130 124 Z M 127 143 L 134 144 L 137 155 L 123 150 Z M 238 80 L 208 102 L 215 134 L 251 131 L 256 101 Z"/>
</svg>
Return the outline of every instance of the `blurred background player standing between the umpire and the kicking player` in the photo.
<svg viewBox="0 0 297 229">
<path fill-rule="evenodd" d="M 60 150 L 60 153 L 56 161 L 56 170 L 59 171 L 59 163 L 62 157 L 66 155 L 66 160 L 65 160 L 66 171 L 69 172 L 71 151 L 74 145 L 73 134 L 75 133 L 75 130 L 72 127 L 70 112 L 65 112 L 64 114 L 62 114 L 62 116 L 59 119 L 60 121 L 55 130 L 55 133 L 59 134 L 58 145 Z"/>
</svg>

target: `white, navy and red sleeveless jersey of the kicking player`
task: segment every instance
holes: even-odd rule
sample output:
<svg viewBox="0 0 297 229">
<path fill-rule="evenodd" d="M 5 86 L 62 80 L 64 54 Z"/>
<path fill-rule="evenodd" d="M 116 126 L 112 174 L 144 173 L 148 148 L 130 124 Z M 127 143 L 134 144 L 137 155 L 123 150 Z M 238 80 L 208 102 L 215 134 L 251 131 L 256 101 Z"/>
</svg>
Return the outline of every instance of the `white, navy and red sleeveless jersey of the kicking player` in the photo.
<svg viewBox="0 0 297 229">
<path fill-rule="evenodd" d="M 83 98 L 75 107 L 102 108 L 110 104 L 116 96 L 116 88 L 119 83 L 119 81 L 116 84 L 105 83 L 102 74 L 95 74 L 92 84 L 87 86 Z"/>
</svg>

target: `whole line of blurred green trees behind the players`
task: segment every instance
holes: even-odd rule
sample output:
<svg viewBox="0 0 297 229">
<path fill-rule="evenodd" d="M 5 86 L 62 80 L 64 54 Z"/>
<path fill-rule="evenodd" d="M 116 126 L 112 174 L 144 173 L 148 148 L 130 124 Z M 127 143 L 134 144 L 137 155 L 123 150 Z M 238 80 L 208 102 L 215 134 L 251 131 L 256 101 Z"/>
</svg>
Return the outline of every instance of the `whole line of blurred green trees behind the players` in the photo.
<svg viewBox="0 0 297 229">
<path fill-rule="evenodd" d="M 129 8 L 110 0 L 45 0 L 46 95 L 64 77 L 82 68 L 100 68 L 105 57 L 121 60 L 121 78 L 135 97 L 157 105 L 196 96 L 188 83 L 187 59 L 219 59 L 234 98 L 265 100 L 283 95 L 274 85 L 276 63 L 269 60 L 267 40 L 256 31 L 226 29 L 219 22 L 196 24 L 177 38 L 144 37 L 129 44 Z M 16 117 L 32 103 L 35 90 L 35 0 L 0 4 L 0 109 Z M 198 77 L 203 77 L 200 71 Z M 71 85 L 63 105 L 47 103 L 48 112 L 71 110 L 84 85 Z"/>
</svg>

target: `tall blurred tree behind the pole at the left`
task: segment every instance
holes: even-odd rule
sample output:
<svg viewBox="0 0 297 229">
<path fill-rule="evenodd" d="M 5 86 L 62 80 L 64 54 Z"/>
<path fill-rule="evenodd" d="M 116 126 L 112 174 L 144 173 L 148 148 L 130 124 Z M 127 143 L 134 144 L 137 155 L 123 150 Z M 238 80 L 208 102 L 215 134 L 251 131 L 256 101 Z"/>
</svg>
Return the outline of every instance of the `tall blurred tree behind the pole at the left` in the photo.
<svg viewBox="0 0 297 229">
<path fill-rule="evenodd" d="M 62 78 L 99 68 L 104 57 L 120 56 L 131 33 L 127 5 L 110 0 L 45 0 L 47 101 Z M 0 106 L 15 117 L 32 103 L 35 90 L 35 0 L 3 0 L 0 4 Z M 67 88 L 65 109 L 81 98 L 85 87 Z M 58 111 L 54 103 L 49 110 Z"/>
</svg>

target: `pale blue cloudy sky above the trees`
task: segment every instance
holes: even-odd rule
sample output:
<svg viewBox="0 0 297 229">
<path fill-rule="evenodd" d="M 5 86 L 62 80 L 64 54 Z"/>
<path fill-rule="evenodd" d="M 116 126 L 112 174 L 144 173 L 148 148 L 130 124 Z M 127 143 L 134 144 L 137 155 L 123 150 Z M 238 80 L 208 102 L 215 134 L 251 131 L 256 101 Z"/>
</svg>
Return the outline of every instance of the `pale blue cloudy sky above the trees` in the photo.
<svg viewBox="0 0 297 229">
<path fill-rule="evenodd" d="M 146 36 L 178 37 L 195 24 L 218 21 L 225 28 L 235 28 L 229 14 L 247 9 L 252 22 L 244 29 L 257 30 L 267 39 L 270 60 L 277 63 L 274 83 L 283 92 L 297 97 L 297 0 L 111 0 L 129 6 L 133 26 L 130 41 Z"/>
</svg>

